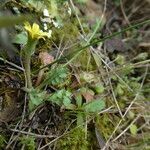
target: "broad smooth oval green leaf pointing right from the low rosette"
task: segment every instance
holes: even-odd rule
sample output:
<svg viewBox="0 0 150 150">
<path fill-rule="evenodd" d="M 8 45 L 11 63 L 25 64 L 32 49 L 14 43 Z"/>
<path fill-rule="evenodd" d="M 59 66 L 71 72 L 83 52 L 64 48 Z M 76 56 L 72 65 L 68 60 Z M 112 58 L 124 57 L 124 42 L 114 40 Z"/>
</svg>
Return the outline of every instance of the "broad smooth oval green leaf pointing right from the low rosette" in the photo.
<svg viewBox="0 0 150 150">
<path fill-rule="evenodd" d="M 105 108 L 105 102 L 103 100 L 93 100 L 93 101 L 83 105 L 83 110 L 88 113 L 99 112 L 104 108 Z"/>
</svg>

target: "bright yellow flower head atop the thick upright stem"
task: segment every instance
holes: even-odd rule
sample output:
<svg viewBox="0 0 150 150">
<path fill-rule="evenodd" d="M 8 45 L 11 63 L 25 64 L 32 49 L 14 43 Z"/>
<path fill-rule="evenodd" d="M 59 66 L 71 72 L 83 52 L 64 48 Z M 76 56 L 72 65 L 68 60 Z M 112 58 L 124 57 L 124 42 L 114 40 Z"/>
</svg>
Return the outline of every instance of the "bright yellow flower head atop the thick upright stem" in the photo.
<svg viewBox="0 0 150 150">
<path fill-rule="evenodd" d="M 40 30 L 40 27 L 38 24 L 33 23 L 33 25 L 31 26 L 29 24 L 29 22 L 25 22 L 25 26 L 24 28 L 28 31 L 28 34 L 30 35 L 30 37 L 32 39 L 45 39 L 44 37 L 51 37 L 51 33 L 50 32 L 43 32 L 42 30 Z"/>
</svg>

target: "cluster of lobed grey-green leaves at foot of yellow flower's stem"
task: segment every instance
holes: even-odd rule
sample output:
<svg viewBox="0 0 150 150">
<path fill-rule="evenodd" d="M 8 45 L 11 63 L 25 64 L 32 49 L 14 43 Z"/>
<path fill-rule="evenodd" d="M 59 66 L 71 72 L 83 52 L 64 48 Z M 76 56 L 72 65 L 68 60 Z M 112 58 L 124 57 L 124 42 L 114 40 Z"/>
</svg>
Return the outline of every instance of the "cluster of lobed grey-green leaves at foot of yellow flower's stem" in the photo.
<svg viewBox="0 0 150 150">
<path fill-rule="evenodd" d="M 33 110 L 44 101 L 52 101 L 57 105 L 68 106 L 71 105 L 71 93 L 65 89 L 58 90 L 53 94 L 48 94 L 46 91 L 43 91 L 43 87 L 46 85 L 63 87 L 62 85 L 67 84 L 69 70 L 62 66 L 51 69 L 46 73 L 44 81 L 37 87 L 31 89 L 25 89 L 29 95 L 29 109 Z"/>
</svg>

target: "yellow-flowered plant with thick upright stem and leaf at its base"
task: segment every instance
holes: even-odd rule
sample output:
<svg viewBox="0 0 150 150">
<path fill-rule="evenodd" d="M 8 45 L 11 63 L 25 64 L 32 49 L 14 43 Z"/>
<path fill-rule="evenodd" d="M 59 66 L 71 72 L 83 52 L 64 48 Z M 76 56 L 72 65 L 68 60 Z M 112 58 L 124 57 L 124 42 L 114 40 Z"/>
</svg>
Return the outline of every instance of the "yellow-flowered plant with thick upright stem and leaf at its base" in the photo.
<svg viewBox="0 0 150 150">
<path fill-rule="evenodd" d="M 31 26 L 28 22 L 25 23 L 24 28 L 28 32 L 27 43 L 25 44 L 22 54 L 23 54 L 23 65 L 25 68 L 26 77 L 26 91 L 29 93 L 29 109 L 32 110 L 35 106 L 38 106 L 43 102 L 43 97 L 45 92 L 39 92 L 32 86 L 31 79 L 31 57 L 35 53 L 36 45 L 39 39 L 45 39 L 44 37 L 50 37 L 51 33 L 43 32 L 40 30 L 39 25 L 34 23 Z"/>
</svg>

